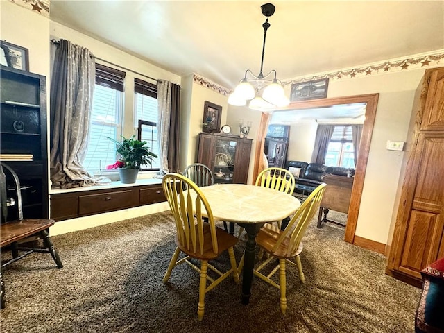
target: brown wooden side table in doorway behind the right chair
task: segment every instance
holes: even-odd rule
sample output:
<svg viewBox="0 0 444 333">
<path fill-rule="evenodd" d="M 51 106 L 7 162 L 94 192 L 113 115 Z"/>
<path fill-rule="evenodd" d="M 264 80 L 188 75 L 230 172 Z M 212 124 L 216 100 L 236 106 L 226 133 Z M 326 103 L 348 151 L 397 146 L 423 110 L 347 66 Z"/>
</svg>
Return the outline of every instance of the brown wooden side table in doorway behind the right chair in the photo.
<svg viewBox="0 0 444 333">
<path fill-rule="evenodd" d="M 350 196 L 352 195 L 353 177 L 337 176 L 327 174 L 323 182 L 327 184 L 321 207 L 319 207 L 318 228 L 321 228 L 322 222 L 331 222 L 337 225 L 345 226 L 342 223 L 327 219 L 329 210 L 348 214 L 350 206 Z M 324 213 L 324 217 L 322 214 Z"/>
</svg>

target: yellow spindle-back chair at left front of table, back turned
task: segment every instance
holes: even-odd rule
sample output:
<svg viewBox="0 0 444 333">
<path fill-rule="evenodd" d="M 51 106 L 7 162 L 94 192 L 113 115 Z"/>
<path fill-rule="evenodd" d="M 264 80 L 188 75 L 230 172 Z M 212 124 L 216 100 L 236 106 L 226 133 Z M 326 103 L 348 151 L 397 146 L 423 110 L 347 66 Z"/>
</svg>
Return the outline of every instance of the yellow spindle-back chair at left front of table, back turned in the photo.
<svg viewBox="0 0 444 333">
<path fill-rule="evenodd" d="M 177 231 L 177 248 L 171 258 L 163 282 L 167 283 L 174 267 L 185 262 L 198 271 L 200 273 L 200 286 L 197 314 L 199 321 L 202 321 L 205 309 L 205 294 L 225 278 L 228 278 L 230 274 L 234 275 L 235 282 L 239 282 L 233 249 L 233 246 L 237 243 L 237 238 L 221 228 L 216 228 L 211 207 L 202 191 L 192 180 L 178 173 L 167 173 L 163 178 L 162 185 L 176 221 Z M 207 216 L 208 223 L 203 223 L 203 215 Z M 210 265 L 208 261 L 216 259 L 225 250 L 228 250 L 231 269 L 222 273 Z M 185 253 L 186 256 L 178 259 L 181 252 Z M 194 265 L 189 260 L 190 258 L 200 260 L 200 268 Z M 208 276 L 208 268 L 219 275 L 219 278 L 214 280 Z M 208 286 L 207 280 L 210 281 Z"/>
</svg>

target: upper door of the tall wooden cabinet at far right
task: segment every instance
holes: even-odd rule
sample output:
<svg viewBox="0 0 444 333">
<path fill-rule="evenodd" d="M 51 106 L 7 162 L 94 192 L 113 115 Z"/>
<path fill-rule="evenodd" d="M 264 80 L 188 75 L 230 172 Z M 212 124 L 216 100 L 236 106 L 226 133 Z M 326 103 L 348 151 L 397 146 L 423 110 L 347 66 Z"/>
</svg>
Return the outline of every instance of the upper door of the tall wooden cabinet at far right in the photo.
<svg viewBox="0 0 444 333">
<path fill-rule="evenodd" d="M 444 130 L 444 69 L 432 71 L 422 114 L 421 130 Z"/>
</svg>

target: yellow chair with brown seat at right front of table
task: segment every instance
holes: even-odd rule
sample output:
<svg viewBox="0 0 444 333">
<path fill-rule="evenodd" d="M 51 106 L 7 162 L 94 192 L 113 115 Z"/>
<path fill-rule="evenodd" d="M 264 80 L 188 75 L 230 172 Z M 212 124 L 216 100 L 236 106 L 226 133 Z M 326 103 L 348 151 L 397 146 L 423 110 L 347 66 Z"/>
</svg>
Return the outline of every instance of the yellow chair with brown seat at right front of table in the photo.
<svg viewBox="0 0 444 333">
<path fill-rule="evenodd" d="M 274 225 L 264 225 L 256 237 L 256 243 L 261 249 L 266 251 L 270 255 L 262 264 L 257 266 L 253 273 L 268 282 L 273 287 L 280 289 L 280 309 L 282 314 L 285 314 L 287 309 L 286 292 L 286 277 L 285 269 L 287 262 L 298 267 L 299 278 L 302 283 L 305 282 L 304 272 L 302 271 L 302 264 L 300 262 L 300 253 L 302 252 L 301 239 L 307 230 L 307 227 L 314 217 L 314 214 L 318 212 L 319 205 L 321 204 L 322 196 L 327 184 L 323 183 L 316 187 L 311 192 L 307 199 L 300 205 L 298 211 L 293 215 L 291 221 L 284 230 L 276 228 Z M 279 264 L 275 266 L 271 273 L 264 275 L 260 273 L 263 268 L 270 264 L 273 259 L 278 258 Z M 292 259 L 295 261 L 293 262 Z M 244 257 L 241 259 L 239 269 L 241 269 L 244 263 Z M 279 283 L 271 280 L 275 273 L 279 271 Z"/>
</svg>

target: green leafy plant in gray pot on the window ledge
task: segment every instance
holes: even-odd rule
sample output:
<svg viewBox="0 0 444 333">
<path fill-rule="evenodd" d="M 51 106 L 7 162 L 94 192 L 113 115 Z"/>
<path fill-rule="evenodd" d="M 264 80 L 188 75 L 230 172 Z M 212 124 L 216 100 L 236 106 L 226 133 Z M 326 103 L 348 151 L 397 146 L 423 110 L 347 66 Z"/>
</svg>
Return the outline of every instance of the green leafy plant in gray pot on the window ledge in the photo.
<svg viewBox="0 0 444 333">
<path fill-rule="evenodd" d="M 116 144 L 116 151 L 119 153 L 119 160 L 108 166 L 107 169 L 119 169 L 120 181 L 125 184 L 132 184 L 137 179 L 140 166 L 153 162 L 153 158 L 157 155 L 153 153 L 149 147 L 145 146 L 146 141 L 135 139 L 135 135 L 127 139 L 121 135 L 122 140 L 119 142 L 112 137 L 108 137 Z"/>
</svg>

